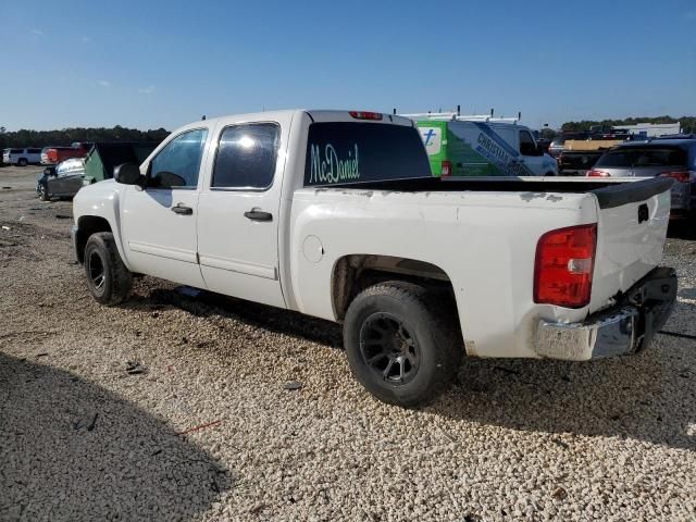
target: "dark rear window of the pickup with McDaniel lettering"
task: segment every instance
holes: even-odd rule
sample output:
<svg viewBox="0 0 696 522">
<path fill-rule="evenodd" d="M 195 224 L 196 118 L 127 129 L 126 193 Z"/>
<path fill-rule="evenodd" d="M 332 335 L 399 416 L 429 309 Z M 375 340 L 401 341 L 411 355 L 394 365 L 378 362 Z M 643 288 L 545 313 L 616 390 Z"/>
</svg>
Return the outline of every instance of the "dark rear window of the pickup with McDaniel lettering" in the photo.
<svg viewBox="0 0 696 522">
<path fill-rule="evenodd" d="M 312 123 L 304 186 L 431 177 L 417 128 L 380 123 Z"/>
</svg>

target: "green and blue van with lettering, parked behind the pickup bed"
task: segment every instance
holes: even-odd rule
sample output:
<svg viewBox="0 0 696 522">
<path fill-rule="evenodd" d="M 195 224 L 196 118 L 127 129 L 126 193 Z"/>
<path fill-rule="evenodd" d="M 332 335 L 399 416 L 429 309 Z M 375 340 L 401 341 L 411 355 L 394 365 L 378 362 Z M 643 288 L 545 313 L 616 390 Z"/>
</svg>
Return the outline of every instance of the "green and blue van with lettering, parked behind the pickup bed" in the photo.
<svg viewBox="0 0 696 522">
<path fill-rule="evenodd" d="M 558 174 L 556 161 L 544 153 L 524 125 L 450 114 L 411 117 L 421 132 L 436 177 Z"/>
</svg>

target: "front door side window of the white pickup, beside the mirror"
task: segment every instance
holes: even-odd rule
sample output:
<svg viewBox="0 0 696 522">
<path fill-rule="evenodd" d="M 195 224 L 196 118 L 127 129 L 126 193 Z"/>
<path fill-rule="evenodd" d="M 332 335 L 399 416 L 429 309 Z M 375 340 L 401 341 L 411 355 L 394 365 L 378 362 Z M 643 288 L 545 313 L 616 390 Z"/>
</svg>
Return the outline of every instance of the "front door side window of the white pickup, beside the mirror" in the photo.
<svg viewBox="0 0 696 522">
<path fill-rule="evenodd" d="M 170 141 L 150 163 L 150 182 L 154 188 L 196 188 L 208 130 L 197 128 Z"/>
</svg>

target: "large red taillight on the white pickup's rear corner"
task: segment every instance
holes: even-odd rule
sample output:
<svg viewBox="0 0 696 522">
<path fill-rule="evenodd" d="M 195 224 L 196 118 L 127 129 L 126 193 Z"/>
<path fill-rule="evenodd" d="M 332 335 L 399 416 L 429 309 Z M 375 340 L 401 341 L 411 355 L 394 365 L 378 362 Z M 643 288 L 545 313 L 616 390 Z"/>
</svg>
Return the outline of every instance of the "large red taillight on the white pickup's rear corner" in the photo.
<svg viewBox="0 0 696 522">
<path fill-rule="evenodd" d="M 597 224 L 559 228 L 536 245 L 534 302 L 566 308 L 589 303 Z"/>
</svg>

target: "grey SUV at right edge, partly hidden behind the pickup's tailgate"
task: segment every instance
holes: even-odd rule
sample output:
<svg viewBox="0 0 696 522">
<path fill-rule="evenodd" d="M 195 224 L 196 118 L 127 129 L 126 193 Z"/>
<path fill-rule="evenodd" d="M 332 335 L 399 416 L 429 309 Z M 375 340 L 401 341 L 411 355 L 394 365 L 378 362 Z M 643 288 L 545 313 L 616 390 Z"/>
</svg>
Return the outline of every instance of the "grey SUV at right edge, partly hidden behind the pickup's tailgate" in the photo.
<svg viewBox="0 0 696 522">
<path fill-rule="evenodd" d="M 587 173 L 594 177 L 670 177 L 672 217 L 696 220 L 696 139 L 627 142 L 605 152 Z"/>
</svg>

